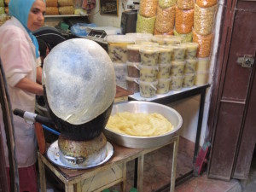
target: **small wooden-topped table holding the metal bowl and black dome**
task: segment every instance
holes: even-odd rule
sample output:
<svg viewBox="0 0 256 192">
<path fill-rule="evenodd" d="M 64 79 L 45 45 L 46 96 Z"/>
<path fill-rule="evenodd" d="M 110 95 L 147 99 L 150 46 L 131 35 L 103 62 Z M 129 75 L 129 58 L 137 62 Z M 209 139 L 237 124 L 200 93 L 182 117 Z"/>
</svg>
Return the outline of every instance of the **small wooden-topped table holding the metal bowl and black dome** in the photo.
<svg viewBox="0 0 256 192">
<path fill-rule="evenodd" d="M 177 165 L 177 148 L 178 148 L 179 136 L 177 134 L 173 135 L 166 145 L 173 143 L 173 151 L 172 151 L 172 176 L 171 176 L 171 192 L 174 192 L 175 188 L 175 178 L 176 178 L 176 165 Z M 45 171 L 44 166 L 49 167 L 49 170 L 58 177 L 61 182 L 65 184 L 66 192 L 82 192 L 83 185 L 86 183 L 86 180 L 96 177 L 102 172 L 108 172 L 113 169 L 114 166 L 120 166 L 122 168 L 121 177 L 118 177 L 111 181 L 110 183 L 104 184 L 104 186 L 99 186 L 97 189 L 86 190 L 86 191 L 102 191 L 103 189 L 107 189 L 117 183 L 122 183 L 122 190 L 125 191 L 125 180 L 126 180 L 126 163 L 130 160 L 137 159 L 137 190 L 139 192 L 143 192 L 143 165 L 144 165 L 144 155 L 148 154 L 158 148 L 162 148 L 164 146 L 158 148 L 147 148 L 147 149 L 137 149 L 137 148 L 125 148 L 114 143 L 114 154 L 113 157 L 108 160 L 102 166 L 96 166 L 94 168 L 86 169 L 86 170 L 71 170 L 66 169 L 60 166 L 56 166 L 51 163 L 46 154 L 40 154 L 38 152 L 38 166 L 39 166 L 39 174 L 40 174 L 40 188 L 42 192 L 46 192 L 46 179 L 45 179 Z M 83 189 L 84 192 L 84 189 Z"/>
</svg>

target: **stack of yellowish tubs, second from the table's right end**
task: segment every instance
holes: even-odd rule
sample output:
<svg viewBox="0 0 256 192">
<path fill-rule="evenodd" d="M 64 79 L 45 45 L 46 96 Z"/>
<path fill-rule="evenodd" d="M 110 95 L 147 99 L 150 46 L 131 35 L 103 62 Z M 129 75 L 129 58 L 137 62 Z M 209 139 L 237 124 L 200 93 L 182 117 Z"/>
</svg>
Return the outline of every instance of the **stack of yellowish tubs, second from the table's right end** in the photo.
<svg viewBox="0 0 256 192">
<path fill-rule="evenodd" d="M 194 85 L 195 67 L 197 65 L 196 53 L 198 44 L 183 43 L 183 45 L 186 47 L 183 87 L 192 87 Z"/>
</svg>

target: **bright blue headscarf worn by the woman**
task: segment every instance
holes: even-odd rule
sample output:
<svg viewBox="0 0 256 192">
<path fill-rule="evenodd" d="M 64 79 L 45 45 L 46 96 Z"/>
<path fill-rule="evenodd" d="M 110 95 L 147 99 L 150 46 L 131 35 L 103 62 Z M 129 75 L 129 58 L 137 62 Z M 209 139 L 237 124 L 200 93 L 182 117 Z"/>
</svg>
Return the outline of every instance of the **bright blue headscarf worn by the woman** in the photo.
<svg viewBox="0 0 256 192">
<path fill-rule="evenodd" d="M 27 28 L 27 19 L 32 8 L 32 4 L 36 0 L 10 0 L 9 2 L 9 15 L 14 16 L 17 20 L 20 20 L 22 26 L 26 28 L 26 32 L 29 34 L 30 38 L 32 39 L 32 43 L 35 45 L 36 48 L 36 57 L 39 57 L 39 46 L 38 40 L 35 36 L 32 35 L 32 31 Z"/>
</svg>

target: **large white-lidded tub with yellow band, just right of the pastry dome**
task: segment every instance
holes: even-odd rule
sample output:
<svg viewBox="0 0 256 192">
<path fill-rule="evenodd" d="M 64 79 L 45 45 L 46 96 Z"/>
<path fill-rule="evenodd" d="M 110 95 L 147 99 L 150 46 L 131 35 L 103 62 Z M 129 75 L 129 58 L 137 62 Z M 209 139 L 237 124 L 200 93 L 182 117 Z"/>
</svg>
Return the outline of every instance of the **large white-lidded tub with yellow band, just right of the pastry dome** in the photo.
<svg viewBox="0 0 256 192">
<path fill-rule="evenodd" d="M 127 61 L 127 45 L 134 44 L 134 40 L 125 35 L 108 35 L 108 55 L 115 63 L 125 63 Z"/>
</svg>

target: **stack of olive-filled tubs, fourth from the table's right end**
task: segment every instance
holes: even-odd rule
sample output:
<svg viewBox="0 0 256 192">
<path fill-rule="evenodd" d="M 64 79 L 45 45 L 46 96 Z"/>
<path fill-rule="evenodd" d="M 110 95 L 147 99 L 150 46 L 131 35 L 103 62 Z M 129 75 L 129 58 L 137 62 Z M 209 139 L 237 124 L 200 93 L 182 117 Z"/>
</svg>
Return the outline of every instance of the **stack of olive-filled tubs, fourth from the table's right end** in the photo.
<svg viewBox="0 0 256 192">
<path fill-rule="evenodd" d="M 158 47 L 158 73 L 157 73 L 157 94 L 165 94 L 169 92 L 171 83 L 170 71 L 172 61 L 172 48 L 170 46 L 160 45 Z"/>
</svg>

